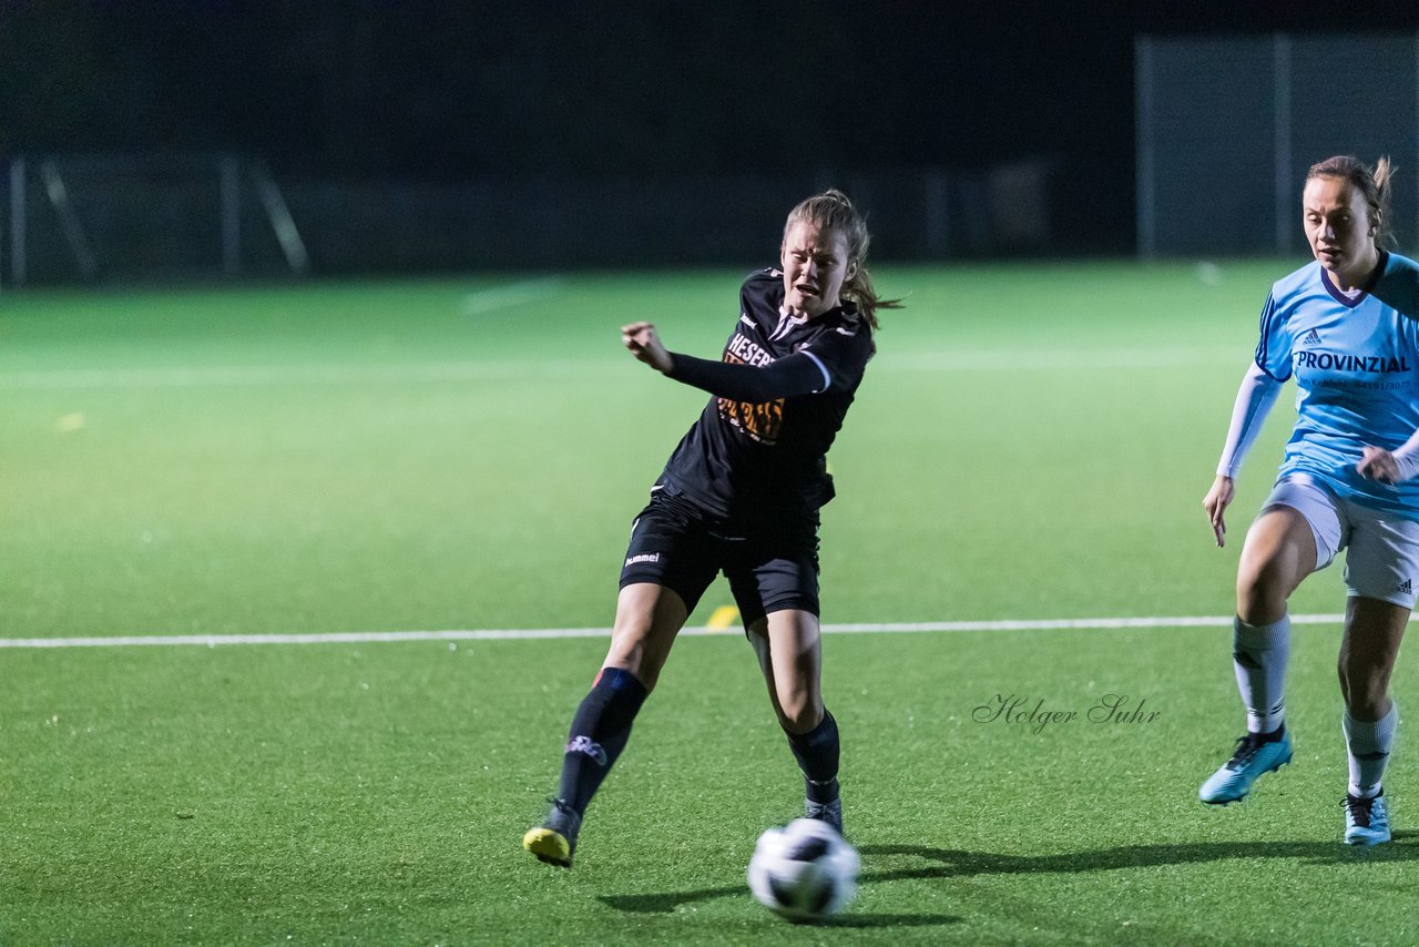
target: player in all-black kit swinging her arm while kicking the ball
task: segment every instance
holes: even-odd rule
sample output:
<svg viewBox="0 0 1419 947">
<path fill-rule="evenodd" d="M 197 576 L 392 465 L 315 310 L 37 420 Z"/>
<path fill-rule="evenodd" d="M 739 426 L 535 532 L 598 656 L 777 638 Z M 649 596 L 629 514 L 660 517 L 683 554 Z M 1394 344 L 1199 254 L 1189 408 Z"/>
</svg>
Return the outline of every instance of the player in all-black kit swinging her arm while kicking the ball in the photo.
<svg viewBox="0 0 1419 947">
<path fill-rule="evenodd" d="M 656 327 L 622 329 L 631 354 L 714 398 L 675 447 L 631 528 L 612 646 L 572 718 L 546 819 L 522 838 L 570 867 L 587 804 L 630 735 L 700 596 L 724 571 L 769 700 L 807 787 L 806 815 L 843 829 L 837 723 L 819 690 L 817 511 L 826 454 L 876 349 L 868 233 L 829 190 L 789 213 L 779 270 L 751 275 L 719 362 L 666 351 Z"/>
</svg>

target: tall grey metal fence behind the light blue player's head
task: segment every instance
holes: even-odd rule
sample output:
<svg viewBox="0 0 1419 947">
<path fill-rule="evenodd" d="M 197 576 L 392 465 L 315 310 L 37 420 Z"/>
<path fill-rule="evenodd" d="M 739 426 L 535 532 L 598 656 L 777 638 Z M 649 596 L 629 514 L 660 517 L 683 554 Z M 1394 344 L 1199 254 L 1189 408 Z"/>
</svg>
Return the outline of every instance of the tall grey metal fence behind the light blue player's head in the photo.
<svg viewBox="0 0 1419 947">
<path fill-rule="evenodd" d="M 1399 166 L 1391 223 L 1419 240 L 1419 33 L 1135 43 L 1138 254 L 1305 250 L 1305 170 Z"/>
</svg>

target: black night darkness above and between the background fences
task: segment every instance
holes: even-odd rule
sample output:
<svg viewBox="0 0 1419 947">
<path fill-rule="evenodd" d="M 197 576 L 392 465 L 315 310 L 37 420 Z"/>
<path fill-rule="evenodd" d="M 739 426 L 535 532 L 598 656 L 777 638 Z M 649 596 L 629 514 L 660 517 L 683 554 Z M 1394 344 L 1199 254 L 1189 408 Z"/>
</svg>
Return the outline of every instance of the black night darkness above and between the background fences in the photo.
<svg viewBox="0 0 1419 947">
<path fill-rule="evenodd" d="M 1057 248 L 1128 251 L 1138 34 L 1416 26 L 1416 3 L 1286 0 L 0 0 L 0 155 L 233 149 L 282 180 L 646 183 L 1043 158 L 1080 209 Z"/>
</svg>

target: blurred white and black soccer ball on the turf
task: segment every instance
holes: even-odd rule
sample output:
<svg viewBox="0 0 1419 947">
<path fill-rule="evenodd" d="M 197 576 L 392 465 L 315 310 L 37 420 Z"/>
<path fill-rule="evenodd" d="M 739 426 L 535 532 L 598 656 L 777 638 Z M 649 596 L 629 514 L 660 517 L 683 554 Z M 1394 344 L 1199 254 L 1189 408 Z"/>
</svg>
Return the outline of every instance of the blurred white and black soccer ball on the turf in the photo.
<svg viewBox="0 0 1419 947">
<path fill-rule="evenodd" d="M 749 890 L 780 917 L 816 921 L 857 893 L 857 850 L 820 819 L 793 819 L 759 836 Z"/>
</svg>

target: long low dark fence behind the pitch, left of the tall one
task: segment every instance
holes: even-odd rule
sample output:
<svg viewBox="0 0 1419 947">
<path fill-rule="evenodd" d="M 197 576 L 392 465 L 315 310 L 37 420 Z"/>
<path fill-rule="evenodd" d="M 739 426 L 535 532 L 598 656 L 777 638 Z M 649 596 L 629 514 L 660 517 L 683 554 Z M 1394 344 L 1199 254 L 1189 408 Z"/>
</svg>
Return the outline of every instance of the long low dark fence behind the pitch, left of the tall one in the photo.
<svg viewBox="0 0 1419 947">
<path fill-rule="evenodd" d="M 841 187 L 877 260 L 1049 253 L 1059 159 L 673 180 L 282 179 L 238 155 L 21 155 L 0 175 L 0 280 L 759 266 L 802 197 Z"/>
</svg>

